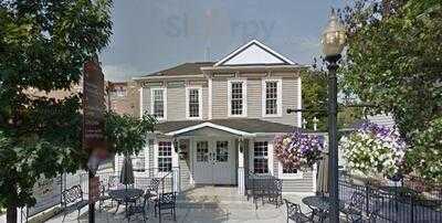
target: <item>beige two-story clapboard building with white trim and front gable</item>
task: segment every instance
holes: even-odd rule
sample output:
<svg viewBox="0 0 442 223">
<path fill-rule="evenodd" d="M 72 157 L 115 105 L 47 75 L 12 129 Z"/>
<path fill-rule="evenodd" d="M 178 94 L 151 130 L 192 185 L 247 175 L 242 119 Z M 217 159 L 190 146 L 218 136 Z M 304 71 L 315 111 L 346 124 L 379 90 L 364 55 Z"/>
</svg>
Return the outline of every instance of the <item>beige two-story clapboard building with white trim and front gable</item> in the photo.
<svg viewBox="0 0 442 223">
<path fill-rule="evenodd" d="M 136 174 L 173 179 L 176 191 L 199 184 L 238 187 L 249 172 L 283 179 L 283 192 L 312 192 L 314 171 L 284 169 L 276 135 L 299 130 L 305 66 L 251 41 L 217 62 L 185 63 L 138 77 L 140 114 L 155 134 L 133 159 Z M 122 158 L 116 158 L 117 170 Z"/>
</svg>

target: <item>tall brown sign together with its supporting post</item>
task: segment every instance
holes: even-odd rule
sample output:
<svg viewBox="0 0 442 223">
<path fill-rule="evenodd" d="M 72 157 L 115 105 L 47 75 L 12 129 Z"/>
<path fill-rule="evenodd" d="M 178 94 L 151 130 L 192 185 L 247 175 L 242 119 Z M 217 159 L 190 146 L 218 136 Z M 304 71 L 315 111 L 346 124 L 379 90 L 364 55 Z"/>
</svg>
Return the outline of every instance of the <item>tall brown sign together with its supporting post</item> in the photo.
<svg viewBox="0 0 442 223">
<path fill-rule="evenodd" d="M 104 74 L 96 59 L 87 61 L 83 67 L 83 149 L 90 155 L 88 222 L 92 223 L 95 222 L 95 193 L 98 183 L 94 176 L 101 159 L 105 157 L 103 155 L 106 153 L 104 112 Z"/>
</svg>

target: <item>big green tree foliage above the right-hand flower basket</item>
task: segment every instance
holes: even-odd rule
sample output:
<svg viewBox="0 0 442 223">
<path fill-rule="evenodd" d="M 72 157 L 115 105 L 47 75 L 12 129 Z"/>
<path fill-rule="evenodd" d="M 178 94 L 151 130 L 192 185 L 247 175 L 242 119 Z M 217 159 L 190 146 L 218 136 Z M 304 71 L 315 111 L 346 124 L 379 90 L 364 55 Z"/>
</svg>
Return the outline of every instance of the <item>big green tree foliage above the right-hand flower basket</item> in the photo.
<svg viewBox="0 0 442 223">
<path fill-rule="evenodd" d="M 442 113 L 442 2 L 358 0 L 345 11 L 348 49 L 343 74 L 347 93 L 391 113 L 401 135 Z"/>
</svg>

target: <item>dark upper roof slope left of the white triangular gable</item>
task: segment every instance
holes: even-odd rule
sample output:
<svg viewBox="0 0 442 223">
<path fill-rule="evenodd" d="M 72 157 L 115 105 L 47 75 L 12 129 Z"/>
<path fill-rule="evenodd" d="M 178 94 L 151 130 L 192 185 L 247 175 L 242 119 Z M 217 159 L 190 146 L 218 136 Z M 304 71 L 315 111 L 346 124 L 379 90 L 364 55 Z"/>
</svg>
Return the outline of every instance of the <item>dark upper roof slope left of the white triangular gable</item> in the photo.
<svg viewBox="0 0 442 223">
<path fill-rule="evenodd" d="M 183 63 L 171 68 L 162 70 L 148 74 L 145 76 L 180 76 L 180 75 L 198 75 L 202 74 L 202 66 L 212 66 L 214 62 L 194 62 L 194 63 Z"/>
</svg>

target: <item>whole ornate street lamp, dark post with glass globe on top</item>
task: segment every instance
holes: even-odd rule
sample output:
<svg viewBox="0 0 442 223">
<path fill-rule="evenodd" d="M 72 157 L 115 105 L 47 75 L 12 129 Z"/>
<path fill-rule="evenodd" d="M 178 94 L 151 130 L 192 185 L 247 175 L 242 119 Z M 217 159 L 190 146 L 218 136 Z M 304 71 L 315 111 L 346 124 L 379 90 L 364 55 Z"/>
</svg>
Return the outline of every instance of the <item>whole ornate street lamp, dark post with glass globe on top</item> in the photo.
<svg viewBox="0 0 442 223">
<path fill-rule="evenodd" d="M 339 22 L 335 10 L 332 10 L 330 19 L 322 36 L 323 52 L 328 62 L 328 171 L 330 176 L 329 189 L 332 198 L 330 220 L 339 222 L 339 195 L 338 195 L 338 141 L 337 141 L 337 77 L 338 60 L 346 42 L 346 31 Z"/>
</svg>

